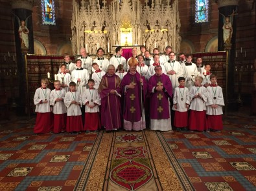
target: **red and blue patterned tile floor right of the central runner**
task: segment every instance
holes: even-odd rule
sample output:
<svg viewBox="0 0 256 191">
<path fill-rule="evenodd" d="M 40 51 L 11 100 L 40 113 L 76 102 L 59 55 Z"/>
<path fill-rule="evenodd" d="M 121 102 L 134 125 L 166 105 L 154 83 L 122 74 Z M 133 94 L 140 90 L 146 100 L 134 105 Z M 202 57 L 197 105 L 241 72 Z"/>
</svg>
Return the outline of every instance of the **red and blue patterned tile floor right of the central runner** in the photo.
<svg viewBox="0 0 256 191">
<path fill-rule="evenodd" d="M 256 190 L 255 117 L 226 117 L 221 133 L 163 136 L 196 190 Z"/>
</svg>

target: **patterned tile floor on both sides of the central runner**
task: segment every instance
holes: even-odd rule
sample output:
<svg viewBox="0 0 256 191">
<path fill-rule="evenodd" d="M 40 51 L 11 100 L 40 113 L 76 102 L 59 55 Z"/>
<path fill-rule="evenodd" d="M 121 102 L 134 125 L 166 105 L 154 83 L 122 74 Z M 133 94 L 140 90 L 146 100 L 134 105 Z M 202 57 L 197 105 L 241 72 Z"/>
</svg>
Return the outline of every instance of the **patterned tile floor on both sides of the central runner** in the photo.
<svg viewBox="0 0 256 191">
<path fill-rule="evenodd" d="M 97 134 L 32 132 L 0 124 L 0 190 L 73 190 Z M 217 132 L 163 132 L 196 190 L 256 190 L 256 119 L 229 116 Z"/>
</svg>

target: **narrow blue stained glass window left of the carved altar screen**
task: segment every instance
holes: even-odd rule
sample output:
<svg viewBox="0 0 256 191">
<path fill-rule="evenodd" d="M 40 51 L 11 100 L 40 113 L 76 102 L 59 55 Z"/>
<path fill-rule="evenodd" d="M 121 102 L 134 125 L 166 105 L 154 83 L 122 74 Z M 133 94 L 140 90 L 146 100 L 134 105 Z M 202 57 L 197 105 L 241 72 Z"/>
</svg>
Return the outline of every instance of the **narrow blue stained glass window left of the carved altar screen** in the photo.
<svg viewBox="0 0 256 191">
<path fill-rule="evenodd" d="M 55 25 L 54 0 L 41 0 L 43 25 Z"/>
</svg>

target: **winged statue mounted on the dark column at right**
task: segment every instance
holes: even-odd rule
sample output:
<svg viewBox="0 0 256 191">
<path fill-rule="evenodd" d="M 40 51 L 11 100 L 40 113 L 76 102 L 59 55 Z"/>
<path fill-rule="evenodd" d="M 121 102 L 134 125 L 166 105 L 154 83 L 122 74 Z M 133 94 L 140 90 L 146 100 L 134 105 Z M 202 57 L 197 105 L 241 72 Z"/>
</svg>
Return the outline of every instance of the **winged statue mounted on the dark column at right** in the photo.
<svg viewBox="0 0 256 191">
<path fill-rule="evenodd" d="M 224 25 L 222 26 L 223 29 L 223 40 L 224 43 L 226 43 L 227 45 L 231 44 L 231 37 L 233 34 L 233 17 L 235 15 L 235 10 L 233 10 L 232 14 L 229 15 L 229 17 L 226 17 L 224 14 L 222 15 L 222 19 L 223 19 L 223 23 Z"/>
</svg>

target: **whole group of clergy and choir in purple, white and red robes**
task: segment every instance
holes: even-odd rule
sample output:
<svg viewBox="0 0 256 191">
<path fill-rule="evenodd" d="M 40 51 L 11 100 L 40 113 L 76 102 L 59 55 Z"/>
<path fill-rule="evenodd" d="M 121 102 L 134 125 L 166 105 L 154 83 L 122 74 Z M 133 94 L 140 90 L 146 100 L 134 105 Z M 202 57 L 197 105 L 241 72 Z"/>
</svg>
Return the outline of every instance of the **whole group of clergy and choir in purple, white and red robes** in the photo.
<svg viewBox="0 0 256 191">
<path fill-rule="evenodd" d="M 222 130 L 222 88 L 211 74 L 211 65 L 202 58 L 192 63 L 192 55 L 176 54 L 167 46 L 165 54 L 154 55 L 145 46 L 132 49 L 132 57 L 122 57 L 121 46 L 110 60 L 97 50 L 94 60 L 81 48 L 75 63 L 64 54 L 54 90 L 48 79 L 34 95 L 34 133 L 70 134 L 111 130 Z M 171 111 L 172 110 L 172 111 Z M 82 118 L 82 114 L 84 118 Z M 52 115 L 53 114 L 53 115 Z M 52 117 L 53 116 L 53 117 Z"/>
</svg>

